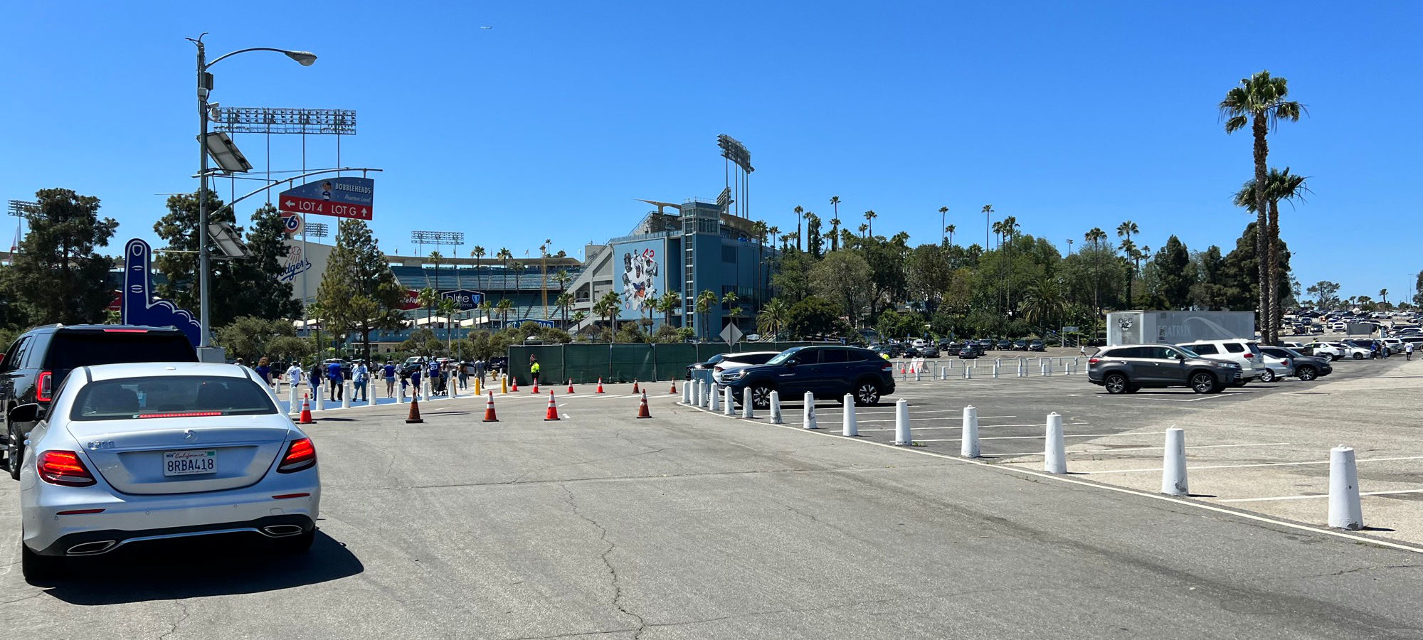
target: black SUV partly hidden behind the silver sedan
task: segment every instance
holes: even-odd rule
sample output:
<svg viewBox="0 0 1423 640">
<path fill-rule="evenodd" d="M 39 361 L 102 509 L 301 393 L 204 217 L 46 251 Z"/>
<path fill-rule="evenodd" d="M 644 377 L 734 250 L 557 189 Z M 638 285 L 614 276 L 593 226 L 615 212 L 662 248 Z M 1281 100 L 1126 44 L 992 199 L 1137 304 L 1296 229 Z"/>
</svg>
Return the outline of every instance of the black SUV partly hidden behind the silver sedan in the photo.
<svg viewBox="0 0 1423 640">
<path fill-rule="evenodd" d="M 20 336 L 0 358 L 0 412 L 4 412 L 6 465 L 20 478 L 24 438 L 36 422 L 11 422 L 21 404 L 48 408 L 54 390 L 78 367 L 115 363 L 196 363 L 198 351 L 176 329 L 125 324 L 50 324 Z"/>
</svg>

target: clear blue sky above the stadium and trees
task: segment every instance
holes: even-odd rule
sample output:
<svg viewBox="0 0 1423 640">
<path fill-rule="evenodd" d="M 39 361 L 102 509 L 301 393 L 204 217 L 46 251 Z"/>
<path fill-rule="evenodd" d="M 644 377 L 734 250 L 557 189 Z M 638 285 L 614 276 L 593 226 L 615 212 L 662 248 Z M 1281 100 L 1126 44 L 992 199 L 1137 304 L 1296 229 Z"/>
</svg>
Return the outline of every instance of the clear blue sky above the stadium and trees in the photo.
<svg viewBox="0 0 1423 640">
<path fill-rule="evenodd" d="M 1313 191 L 1282 212 L 1296 276 L 1402 300 L 1423 269 L 1420 27 L 1417 1 L 17 3 L 0 20 L 0 199 L 73 188 L 120 240 L 152 238 L 157 193 L 196 188 L 184 37 L 212 31 L 211 54 L 320 55 L 223 61 L 212 100 L 357 110 L 343 161 L 386 169 L 387 252 L 427 229 L 576 256 L 626 233 L 647 210 L 635 198 L 714 196 L 717 134 L 747 144 L 753 218 L 781 229 L 795 205 L 828 219 L 838 195 L 852 228 L 874 209 L 912 242 L 938 240 L 945 205 L 955 240 L 982 242 L 992 203 L 1063 249 L 1131 219 L 1153 249 L 1175 233 L 1228 250 L 1251 141 L 1215 104 L 1268 68 L 1309 108 L 1271 137 L 1271 164 Z M 272 139 L 273 168 L 300 168 L 299 138 Z M 262 137 L 238 144 L 266 165 Z M 309 139 L 307 165 L 334 165 L 330 138 Z"/>
</svg>

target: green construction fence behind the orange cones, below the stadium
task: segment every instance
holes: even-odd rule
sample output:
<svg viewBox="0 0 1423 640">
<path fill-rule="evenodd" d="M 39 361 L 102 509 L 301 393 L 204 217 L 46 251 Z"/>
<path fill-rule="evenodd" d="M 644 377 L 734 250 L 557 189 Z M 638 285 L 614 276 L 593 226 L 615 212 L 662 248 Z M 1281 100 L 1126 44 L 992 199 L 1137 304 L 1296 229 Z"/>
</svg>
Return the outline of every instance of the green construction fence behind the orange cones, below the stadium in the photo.
<svg viewBox="0 0 1423 640">
<path fill-rule="evenodd" d="M 509 347 L 509 375 L 529 384 L 529 357 L 536 357 L 544 384 L 632 383 L 682 380 L 687 367 L 727 351 L 784 351 L 815 343 L 739 343 L 736 347 L 702 344 L 527 344 Z"/>
</svg>

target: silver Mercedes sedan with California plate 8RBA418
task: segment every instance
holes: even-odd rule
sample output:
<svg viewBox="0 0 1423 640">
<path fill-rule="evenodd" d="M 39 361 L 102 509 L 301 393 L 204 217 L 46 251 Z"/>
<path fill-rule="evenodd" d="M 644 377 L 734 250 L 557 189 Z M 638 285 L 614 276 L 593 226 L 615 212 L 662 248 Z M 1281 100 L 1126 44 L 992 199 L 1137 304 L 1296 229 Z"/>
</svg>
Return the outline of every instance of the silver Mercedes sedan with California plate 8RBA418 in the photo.
<svg viewBox="0 0 1423 640">
<path fill-rule="evenodd" d="M 256 374 L 233 364 L 81 367 L 38 420 L 20 468 L 21 569 L 174 538 L 250 533 L 305 552 L 316 535 L 316 448 Z"/>
</svg>

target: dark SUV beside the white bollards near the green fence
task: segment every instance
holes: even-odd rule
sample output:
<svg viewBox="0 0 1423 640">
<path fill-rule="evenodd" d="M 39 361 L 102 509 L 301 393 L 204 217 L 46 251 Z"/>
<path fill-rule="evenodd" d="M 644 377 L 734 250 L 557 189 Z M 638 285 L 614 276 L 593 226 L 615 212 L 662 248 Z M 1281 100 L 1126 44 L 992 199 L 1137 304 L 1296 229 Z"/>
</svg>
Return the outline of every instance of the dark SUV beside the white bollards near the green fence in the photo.
<svg viewBox="0 0 1423 640">
<path fill-rule="evenodd" d="M 731 387 L 737 401 L 741 390 L 750 388 L 751 405 L 760 410 L 771 405 L 771 391 L 785 401 L 800 400 L 805 391 L 825 400 L 852 394 L 855 405 L 864 407 L 894 393 L 894 366 L 868 348 L 795 347 L 766 364 L 719 373 L 717 383 Z"/>
</svg>

